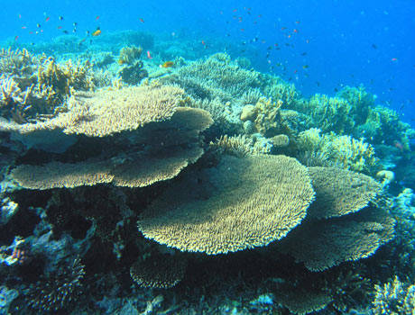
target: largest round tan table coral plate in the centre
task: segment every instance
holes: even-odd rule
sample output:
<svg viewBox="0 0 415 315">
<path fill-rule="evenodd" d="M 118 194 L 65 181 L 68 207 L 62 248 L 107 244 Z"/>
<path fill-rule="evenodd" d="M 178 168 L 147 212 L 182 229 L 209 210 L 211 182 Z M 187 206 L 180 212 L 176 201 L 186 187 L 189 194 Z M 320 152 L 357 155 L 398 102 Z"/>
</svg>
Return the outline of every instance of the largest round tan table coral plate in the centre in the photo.
<svg viewBox="0 0 415 315">
<path fill-rule="evenodd" d="M 209 255 L 266 246 L 300 223 L 314 195 L 291 157 L 227 156 L 202 178 L 198 188 L 175 184 L 143 212 L 146 238 Z"/>
</svg>

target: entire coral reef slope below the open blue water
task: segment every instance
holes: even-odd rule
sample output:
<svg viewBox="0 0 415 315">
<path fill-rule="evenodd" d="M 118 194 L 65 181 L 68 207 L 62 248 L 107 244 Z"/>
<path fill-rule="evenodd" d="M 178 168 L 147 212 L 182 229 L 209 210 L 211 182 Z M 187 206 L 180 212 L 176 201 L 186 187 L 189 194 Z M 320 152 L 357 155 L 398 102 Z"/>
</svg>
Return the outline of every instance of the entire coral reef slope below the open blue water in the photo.
<svg viewBox="0 0 415 315">
<path fill-rule="evenodd" d="M 364 86 L 306 98 L 223 52 L 99 40 L 0 54 L 1 314 L 415 311 L 396 112 Z"/>
</svg>

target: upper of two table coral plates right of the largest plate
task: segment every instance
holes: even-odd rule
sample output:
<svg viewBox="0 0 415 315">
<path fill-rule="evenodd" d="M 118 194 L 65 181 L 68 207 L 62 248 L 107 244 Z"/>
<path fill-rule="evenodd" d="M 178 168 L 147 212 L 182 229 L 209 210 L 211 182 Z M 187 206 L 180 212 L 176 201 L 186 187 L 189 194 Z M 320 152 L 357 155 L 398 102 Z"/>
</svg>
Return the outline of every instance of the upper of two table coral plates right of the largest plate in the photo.
<svg viewBox="0 0 415 315">
<path fill-rule="evenodd" d="M 367 175 L 339 168 L 309 167 L 316 200 L 308 217 L 327 219 L 359 211 L 381 193 L 382 184 Z"/>
</svg>

